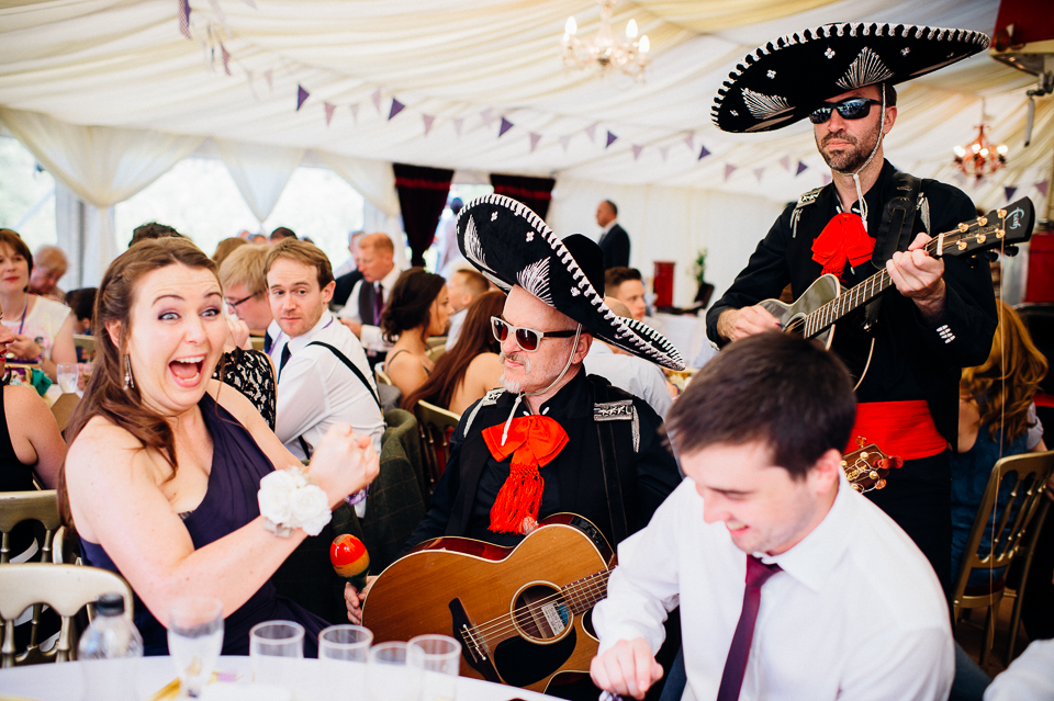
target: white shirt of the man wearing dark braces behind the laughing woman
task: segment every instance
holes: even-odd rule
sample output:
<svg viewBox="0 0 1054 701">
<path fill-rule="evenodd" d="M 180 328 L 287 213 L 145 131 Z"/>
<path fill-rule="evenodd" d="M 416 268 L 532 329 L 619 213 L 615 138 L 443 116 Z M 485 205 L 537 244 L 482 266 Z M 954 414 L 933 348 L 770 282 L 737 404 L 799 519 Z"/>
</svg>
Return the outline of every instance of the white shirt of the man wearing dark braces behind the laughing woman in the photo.
<svg viewBox="0 0 1054 701">
<path fill-rule="evenodd" d="M 307 346 L 322 341 L 337 348 L 356 364 L 370 383 L 362 381 L 328 348 Z M 298 440 L 303 436 L 314 450 L 326 430 L 338 422 L 350 423 L 355 432 L 369 436 L 381 452 L 384 417 L 371 396 L 377 392 L 366 353 L 348 327 L 323 312 L 307 333 L 288 341 L 292 353 L 278 375 L 278 418 L 274 433 L 296 457 L 306 457 Z M 280 358 L 281 355 L 279 355 Z M 280 366 L 280 361 L 276 368 Z"/>
</svg>

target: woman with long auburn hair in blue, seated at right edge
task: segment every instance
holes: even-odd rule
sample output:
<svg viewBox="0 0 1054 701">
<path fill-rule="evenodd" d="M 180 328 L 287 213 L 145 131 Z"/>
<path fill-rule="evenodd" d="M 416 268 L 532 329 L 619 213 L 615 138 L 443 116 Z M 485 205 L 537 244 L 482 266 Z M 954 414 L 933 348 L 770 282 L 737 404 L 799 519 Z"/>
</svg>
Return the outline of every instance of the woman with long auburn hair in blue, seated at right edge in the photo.
<svg viewBox="0 0 1054 701">
<path fill-rule="evenodd" d="M 963 549 L 996 461 L 1046 450 L 1043 425 L 1032 403 L 1046 375 L 1046 359 L 1035 348 L 1021 317 L 1005 302 L 996 305 L 999 325 L 988 360 L 976 368 L 965 368 L 958 383 L 958 452 L 952 454 L 953 581 L 958 577 Z M 1007 504 L 1012 486 L 1013 483 L 1007 480 L 1000 487 L 1000 506 Z M 979 553 L 990 549 L 991 529 L 989 525 L 985 531 Z M 1002 568 L 974 569 L 966 585 L 986 585 L 1001 575 Z"/>
</svg>

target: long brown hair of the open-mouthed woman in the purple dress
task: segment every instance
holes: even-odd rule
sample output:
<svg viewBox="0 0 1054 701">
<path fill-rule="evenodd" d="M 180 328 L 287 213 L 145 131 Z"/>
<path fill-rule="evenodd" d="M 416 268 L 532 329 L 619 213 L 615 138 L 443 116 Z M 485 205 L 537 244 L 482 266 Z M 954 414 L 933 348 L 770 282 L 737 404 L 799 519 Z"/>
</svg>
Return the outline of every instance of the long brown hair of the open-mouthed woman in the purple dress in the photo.
<svg viewBox="0 0 1054 701">
<path fill-rule="evenodd" d="M 143 403 L 139 388 L 125 388 L 125 358 L 138 282 L 148 273 L 169 265 L 204 269 L 216 276 L 216 264 L 187 238 L 159 238 L 136 244 L 110 263 L 96 295 L 96 360 L 85 396 L 74 410 L 66 429 L 66 442 L 72 445 L 88 421 L 101 416 L 135 437 L 144 450 L 157 451 L 176 475 L 176 439 L 168 421 Z M 110 338 L 106 326 L 120 327 L 120 347 Z M 210 375 L 211 369 L 210 369 Z M 169 477 L 171 478 L 171 477 Z M 71 524 L 66 493 L 66 466 L 59 475 L 59 505 L 63 519 Z"/>
</svg>

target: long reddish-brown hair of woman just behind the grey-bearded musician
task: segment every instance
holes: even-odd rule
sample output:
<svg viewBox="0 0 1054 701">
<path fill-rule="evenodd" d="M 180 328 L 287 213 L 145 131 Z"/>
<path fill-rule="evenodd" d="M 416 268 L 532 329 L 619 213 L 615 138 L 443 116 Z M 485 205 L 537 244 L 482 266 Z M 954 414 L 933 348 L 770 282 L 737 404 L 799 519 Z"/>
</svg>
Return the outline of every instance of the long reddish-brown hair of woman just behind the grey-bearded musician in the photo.
<svg viewBox="0 0 1054 701">
<path fill-rule="evenodd" d="M 439 357 L 425 384 L 403 398 L 402 407 L 413 411 L 422 399 L 442 408 L 449 407 L 472 360 L 480 353 L 501 352 L 502 344 L 491 331 L 491 317 L 501 316 L 504 308 L 505 295 L 501 292 L 487 292 L 476 297 L 466 313 L 458 342 Z"/>
</svg>

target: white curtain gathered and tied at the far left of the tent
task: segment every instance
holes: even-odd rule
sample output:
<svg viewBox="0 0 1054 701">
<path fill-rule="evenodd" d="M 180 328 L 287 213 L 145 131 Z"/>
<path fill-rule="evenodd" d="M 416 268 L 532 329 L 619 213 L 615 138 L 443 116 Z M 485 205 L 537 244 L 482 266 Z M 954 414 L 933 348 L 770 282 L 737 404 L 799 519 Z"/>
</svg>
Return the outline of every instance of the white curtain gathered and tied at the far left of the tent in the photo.
<svg viewBox="0 0 1054 701">
<path fill-rule="evenodd" d="M 0 120 L 56 180 L 91 205 L 86 213 L 82 285 L 98 285 L 120 252 L 111 207 L 157 180 L 198 148 L 200 136 L 81 126 L 0 106 Z M 76 261 L 75 261 L 76 264 Z"/>
</svg>

